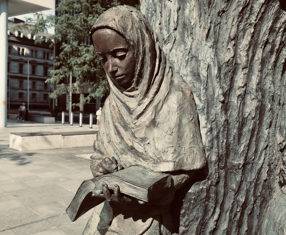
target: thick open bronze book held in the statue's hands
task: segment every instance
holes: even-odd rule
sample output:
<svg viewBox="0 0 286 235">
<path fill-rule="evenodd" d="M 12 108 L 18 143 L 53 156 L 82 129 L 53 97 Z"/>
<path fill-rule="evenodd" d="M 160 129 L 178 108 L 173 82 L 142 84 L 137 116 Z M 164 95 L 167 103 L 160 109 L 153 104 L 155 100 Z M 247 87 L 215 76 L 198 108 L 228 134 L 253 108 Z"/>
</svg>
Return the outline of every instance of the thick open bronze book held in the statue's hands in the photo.
<svg viewBox="0 0 286 235">
<path fill-rule="evenodd" d="M 92 196 L 92 192 L 95 190 L 101 192 L 103 183 L 106 183 L 111 190 L 117 184 L 120 193 L 149 202 L 162 197 L 167 192 L 171 187 L 171 176 L 154 172 L 142 166 L 131 166 L 111 174 L 85 180 L 65 210 L 72 221 L 105 200 Z"/>
</svg>

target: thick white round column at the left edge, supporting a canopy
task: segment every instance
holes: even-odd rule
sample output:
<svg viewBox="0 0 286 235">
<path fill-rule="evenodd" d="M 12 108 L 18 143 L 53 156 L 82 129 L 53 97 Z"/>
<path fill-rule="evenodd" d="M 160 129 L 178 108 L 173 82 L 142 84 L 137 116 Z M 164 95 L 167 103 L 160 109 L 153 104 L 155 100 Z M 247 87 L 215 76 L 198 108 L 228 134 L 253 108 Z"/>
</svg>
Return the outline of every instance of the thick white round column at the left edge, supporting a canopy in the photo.
<svg viewBox="0 0 286 235">
<path fill-rule="evenodd" d="M 7 126 L 8 0 L 0 1 L 0 127 Z M 1 49 L 2 48 L 2 49 Z"/>
</svg>

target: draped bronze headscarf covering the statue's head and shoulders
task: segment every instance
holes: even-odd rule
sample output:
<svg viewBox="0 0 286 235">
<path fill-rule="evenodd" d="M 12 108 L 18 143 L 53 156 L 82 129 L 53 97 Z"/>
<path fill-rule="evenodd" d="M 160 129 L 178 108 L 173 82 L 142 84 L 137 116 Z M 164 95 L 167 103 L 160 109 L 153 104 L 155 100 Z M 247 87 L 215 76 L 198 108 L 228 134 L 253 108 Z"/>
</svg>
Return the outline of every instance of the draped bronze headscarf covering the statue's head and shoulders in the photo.
<svg viewBox="0 0 286 235">
<path fill-rule="evenodd" d="M 137 63 L 125 90 L 107 76 L 110 96 L 102 109 L 91 169 L 95 159 L 112 156 L 124 167 L 137 164 L 159 172 L 203 167 L 205 154 L 192 92 L 173 74 L 146 17 L 127 5 L 112 7 L 92 27 L 91 40 L 102 28 L 124 37 Z"/>
</svg>

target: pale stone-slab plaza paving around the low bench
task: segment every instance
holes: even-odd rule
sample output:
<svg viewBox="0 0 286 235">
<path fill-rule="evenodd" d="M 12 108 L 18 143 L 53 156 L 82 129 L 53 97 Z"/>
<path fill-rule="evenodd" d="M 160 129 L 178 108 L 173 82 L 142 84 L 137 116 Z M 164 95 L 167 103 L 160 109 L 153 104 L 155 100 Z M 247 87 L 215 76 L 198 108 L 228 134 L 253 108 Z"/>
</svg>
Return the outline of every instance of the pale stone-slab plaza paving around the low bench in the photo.
<svg viewBox="0 0 286 235">
<path fill-rule="evenodd" d="M 19 152 L 9 148 L 9 134 L 88 130 L 98 127 L 8 119 L 7 127 L 0 128 L 0 235 L 82 234 L 92 210 L 71 222 L 65 208 L 81 182 L 92 178 L 94 140 L 89 147 Z"/>
</svg>

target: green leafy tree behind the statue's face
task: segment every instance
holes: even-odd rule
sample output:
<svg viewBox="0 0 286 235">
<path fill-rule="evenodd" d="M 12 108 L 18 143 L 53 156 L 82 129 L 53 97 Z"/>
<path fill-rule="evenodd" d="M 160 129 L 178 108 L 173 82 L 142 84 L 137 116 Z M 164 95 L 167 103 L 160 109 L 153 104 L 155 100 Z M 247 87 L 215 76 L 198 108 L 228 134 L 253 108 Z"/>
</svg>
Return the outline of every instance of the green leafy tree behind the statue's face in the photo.
<svg viewBox="0 0 286 235">
<path fill-rule="evenodd" d="M 60 84 L 60 88 L 53 91 L 50 98 L 55 99 L 69 92 L 69 84 L 65 80 L 70 73 L 76 79 L 76 86 L 71 88 L 73 92 L 83 93 L 83 84 L 90 83 L 89 95 L 82 102 L 86 103 L 91 98 L 103 97 L 109 93 L 105 72 L 90 45 L 88 33 L 98 16 L 106 9 L 121 4 L 138 8 L 136 3 L 139 1 L 61 0 L 56 6 L 56 15 L 34 13 L 34 19 L 27 18 L 23 26 L 18 26 L 29 29 L 33 35 L 47 32 L 49 27 L 55 29 L 54 35 L 48 38 L 37 37 L 35 41 L 48 41 L 50 47 L 56 50 L 56 56 L 53 57 L 55 69 L 51 71 L 52 77 L 46 83 Z"/>
</svg>

